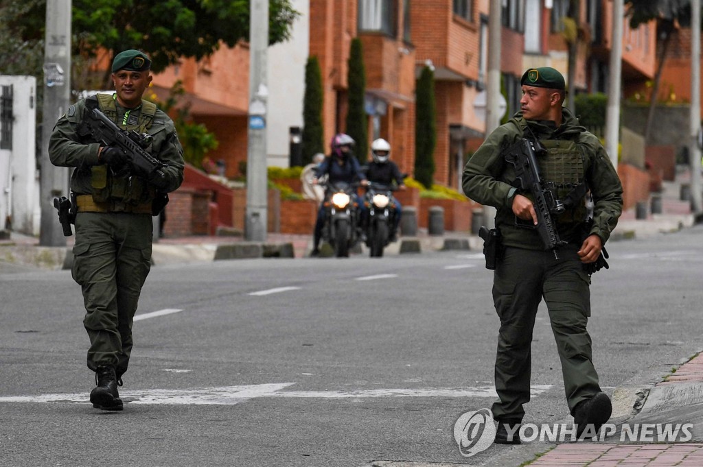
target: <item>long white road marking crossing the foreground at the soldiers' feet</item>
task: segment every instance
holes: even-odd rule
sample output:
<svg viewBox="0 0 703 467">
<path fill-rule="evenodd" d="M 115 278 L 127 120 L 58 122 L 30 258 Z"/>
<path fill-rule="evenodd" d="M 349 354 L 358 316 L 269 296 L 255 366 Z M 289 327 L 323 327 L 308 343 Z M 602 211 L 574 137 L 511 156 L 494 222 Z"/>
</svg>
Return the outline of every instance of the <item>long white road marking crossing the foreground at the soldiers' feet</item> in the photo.
<svg viewBox="0 0 703 467">
<path fill-rule="evenodd" d="M 195 388 L 189 390 L 150 389 L 124 390 L 120 397 L 129 404 L 171 404 L 171 405 L 233 405 L 255 397 L 304 397 L 311 399 L 344 399 L 361 397 L 496 397 L 493 386 L 475 388 L 419 388 L 419 389 L 361 389 L 330 391 L 285 391 L 295 383 L 252 384 L 245 386 L 224 386 L 219 388 Z M 533 396 L 544 393 L 552 385 L 530 387 Z M 43 394 L 0 397 L 0 402 L 89 402 L 88 393 Z"/>
</svg>

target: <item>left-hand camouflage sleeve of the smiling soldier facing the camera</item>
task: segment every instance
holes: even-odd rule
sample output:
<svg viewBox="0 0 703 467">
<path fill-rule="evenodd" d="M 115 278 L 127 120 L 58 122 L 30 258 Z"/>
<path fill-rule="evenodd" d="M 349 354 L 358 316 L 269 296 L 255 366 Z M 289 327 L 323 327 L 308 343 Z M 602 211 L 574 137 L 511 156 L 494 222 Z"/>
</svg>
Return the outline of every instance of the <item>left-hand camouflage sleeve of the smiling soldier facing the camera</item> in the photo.
<svg viewBox="0 0 703 467">
<path fill-rule="evenodd" d="M 59 167 L 94 166 L 98 162 L 98 143 L 84 144 L 78 136 L 78 126 L 81 123 L 84 101 L 68 107 L 68 111 L 60 117 L 49 138 L 49 159 L 51 164 Z"/>
</svg>

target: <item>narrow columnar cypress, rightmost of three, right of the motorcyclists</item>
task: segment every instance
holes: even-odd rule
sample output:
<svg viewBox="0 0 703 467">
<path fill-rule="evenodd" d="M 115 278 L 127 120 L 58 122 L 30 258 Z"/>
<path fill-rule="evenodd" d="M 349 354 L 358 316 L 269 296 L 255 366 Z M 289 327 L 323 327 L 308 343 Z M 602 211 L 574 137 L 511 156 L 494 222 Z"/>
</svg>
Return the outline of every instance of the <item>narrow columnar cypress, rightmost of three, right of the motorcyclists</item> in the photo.
<svg viewBox="0 0 703 467">
<path fill-rule="evenodd" d="M 434 72 L 424 67 L 415 89 L 415 180 L 428 190 L 434 183 L 434 145 L 437 143 Z"/>
</svg>

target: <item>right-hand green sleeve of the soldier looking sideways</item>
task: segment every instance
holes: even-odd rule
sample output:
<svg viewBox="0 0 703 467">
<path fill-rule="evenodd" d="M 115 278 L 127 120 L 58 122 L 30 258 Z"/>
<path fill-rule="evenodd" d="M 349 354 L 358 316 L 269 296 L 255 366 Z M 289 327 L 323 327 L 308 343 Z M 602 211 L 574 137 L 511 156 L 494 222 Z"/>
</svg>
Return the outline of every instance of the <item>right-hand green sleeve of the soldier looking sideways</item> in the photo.
<svg viewBox="0 0 703 467">
<path fill-rule="evenodd" d="M 591 234 L 598 235 L 605 244 L 622 213 L 622 184 L 605 148 L 598 142 L 596 145 L 588 171 L 588 187 L 593 195 Z"/>
</svg>

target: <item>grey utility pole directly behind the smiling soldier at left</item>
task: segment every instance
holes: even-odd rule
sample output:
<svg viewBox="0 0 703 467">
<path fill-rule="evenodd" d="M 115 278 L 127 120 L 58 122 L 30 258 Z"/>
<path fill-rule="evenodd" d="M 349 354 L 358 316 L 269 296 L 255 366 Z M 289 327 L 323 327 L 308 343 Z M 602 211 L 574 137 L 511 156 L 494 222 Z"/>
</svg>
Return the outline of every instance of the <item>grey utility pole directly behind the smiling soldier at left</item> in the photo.
<svg viewBox="0 0 703 467">
<path fill-rule="evenodd" d="M 49 138 L 56 121 L 65 114 L 71 98 L 71 0 L 46 0 L 46 37 L 44 41 L 44 107 L 41 122 L 39 202 L 41 223 L 39 244 L 65 246 L 66 237 L 58 223 L 53 198 L 68 197 L 65 167 L 49 160 Z"/>
</svg>

